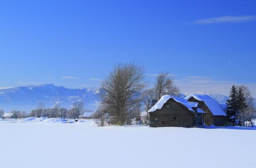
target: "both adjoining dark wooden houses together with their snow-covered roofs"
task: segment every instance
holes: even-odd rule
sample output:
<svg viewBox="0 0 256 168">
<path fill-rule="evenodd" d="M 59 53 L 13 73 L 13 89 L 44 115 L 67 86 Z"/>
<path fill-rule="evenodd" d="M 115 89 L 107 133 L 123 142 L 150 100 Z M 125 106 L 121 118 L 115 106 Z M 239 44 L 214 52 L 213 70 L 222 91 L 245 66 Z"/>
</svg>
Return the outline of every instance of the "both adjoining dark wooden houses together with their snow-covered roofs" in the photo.
<svg viewBox="0 0 256 168">
<path fill-rule="evenodd" d="M 162 96 L 148 111 L 150 127 L 224 126 L 223 107 L 207 95 L 191 94 L 186 98 Z"/>
</svg>

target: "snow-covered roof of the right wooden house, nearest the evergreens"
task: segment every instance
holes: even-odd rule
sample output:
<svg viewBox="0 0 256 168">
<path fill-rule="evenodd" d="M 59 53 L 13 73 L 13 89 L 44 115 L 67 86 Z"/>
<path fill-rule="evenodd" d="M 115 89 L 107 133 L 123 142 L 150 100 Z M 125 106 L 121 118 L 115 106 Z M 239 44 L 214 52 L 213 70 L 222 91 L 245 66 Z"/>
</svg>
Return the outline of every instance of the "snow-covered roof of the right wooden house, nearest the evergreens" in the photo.
<svg viewBox="0 0 256 168">
<path fill-rule="evenodd" d="M 189 96 L 185 97 L 185 100 L 189 100 L 189 98 L 191 97 L 195 98 L 198 101 L 203 101 L 208 106 L 213 115 L 226 115 L 222 106 L 218 103 L 217 100 L 214 100 L 212 97 L 209 97 L 205 94 L 190 94 Z"/>
</svg>

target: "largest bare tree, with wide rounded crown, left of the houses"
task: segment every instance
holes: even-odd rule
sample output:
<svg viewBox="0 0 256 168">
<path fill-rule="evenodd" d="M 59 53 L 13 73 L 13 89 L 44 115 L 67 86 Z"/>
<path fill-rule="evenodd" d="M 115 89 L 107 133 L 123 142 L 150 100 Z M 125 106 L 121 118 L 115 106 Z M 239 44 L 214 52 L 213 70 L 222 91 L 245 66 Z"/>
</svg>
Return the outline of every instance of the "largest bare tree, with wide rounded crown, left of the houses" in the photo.
<svg viewBox="0 0 256 168">
<path fill-rule="evenodd" d="M 122 126 L 127 119 L 127 111 L 142 101 L 140 93 L 146 86 L 143 79 L 142 66 L 119 63 L 102 82 L 100 99 L 109 109 L 110 122 Z"/>
</svg>

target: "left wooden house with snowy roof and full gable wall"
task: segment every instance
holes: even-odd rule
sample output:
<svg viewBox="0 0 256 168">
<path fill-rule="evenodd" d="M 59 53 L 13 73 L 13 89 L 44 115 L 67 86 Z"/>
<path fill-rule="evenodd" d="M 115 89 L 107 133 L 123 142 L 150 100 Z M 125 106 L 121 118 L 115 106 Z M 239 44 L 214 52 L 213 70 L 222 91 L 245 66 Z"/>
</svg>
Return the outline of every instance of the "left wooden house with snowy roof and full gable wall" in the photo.
<svg viewBox="0 0 256 168">
<path fill-rule="evenodd" d="M 162 96 L 148 111 L 150 127 L 193 127 L 197 125 L 197 103 L 184 98 Z"/>
</svg>

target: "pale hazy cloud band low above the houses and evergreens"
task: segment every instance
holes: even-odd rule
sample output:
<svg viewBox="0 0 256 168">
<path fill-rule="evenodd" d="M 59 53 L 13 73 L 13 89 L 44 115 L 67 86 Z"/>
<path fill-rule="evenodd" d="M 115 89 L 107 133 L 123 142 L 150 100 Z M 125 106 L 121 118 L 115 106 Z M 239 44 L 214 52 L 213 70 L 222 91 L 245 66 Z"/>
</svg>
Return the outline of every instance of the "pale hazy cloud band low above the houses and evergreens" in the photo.
<svg viewBox="0 0 256 168">
<path fill-rule="evenodd" d="M 246 85 L 252 96 L 256 96 L 256 83 L 236 83 L 234 81 L 217 80 L 213 77 L 188 76 L 176 79 L 175 83 L 183 93 L 219 93 L 228 96 L 232 85 Z"/>
</svg>

